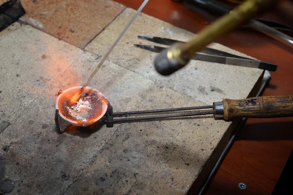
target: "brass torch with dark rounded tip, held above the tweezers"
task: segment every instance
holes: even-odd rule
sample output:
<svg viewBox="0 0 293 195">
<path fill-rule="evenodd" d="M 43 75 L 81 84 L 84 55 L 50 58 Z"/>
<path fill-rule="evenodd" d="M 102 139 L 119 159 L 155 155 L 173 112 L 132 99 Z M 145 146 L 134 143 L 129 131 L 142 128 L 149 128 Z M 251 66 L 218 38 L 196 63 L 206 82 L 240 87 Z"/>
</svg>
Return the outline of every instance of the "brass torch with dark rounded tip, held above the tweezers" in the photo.
<svg viewBox="0 0 293 195">
<path fill-rule="evenodd" d="M 186 43 L 175 43 L 162 51 L 154 60 L 154 66 L 161 75 L 170 75 L 184 67 L 196 52 L 204 49 L 209 43 L 242 22 L 250 20 L 262 10 L 271 7 L 276 0 L 247 0 L 233 9 L 229 14 L 217 20 L 214 24 L 203 29 Z"/>
</svg>

